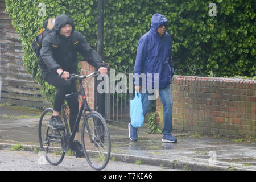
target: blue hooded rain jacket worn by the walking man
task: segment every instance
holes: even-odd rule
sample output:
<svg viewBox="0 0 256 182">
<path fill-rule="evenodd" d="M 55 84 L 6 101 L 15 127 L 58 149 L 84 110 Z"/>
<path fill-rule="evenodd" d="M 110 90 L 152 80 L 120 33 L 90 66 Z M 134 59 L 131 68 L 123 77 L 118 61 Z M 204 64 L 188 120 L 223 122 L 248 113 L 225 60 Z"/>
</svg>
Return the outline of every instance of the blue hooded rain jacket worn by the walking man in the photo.
<svg viewBox="0 0 256 182">
<path fill-rule="evenodd" d="M 134 74 L 152 73 L 152 80 L 146 77 L 147 82 L 152 82 L 154 88 L 154 73 L 159 74 L 159 89 L 171 84 L 174 69 L 172 67 L 172 40 L 166 32 L 160 37 L 156 31 L 162 24 L 167 24 L 167 19 L 160 14 L 154 14 L 151 19 L 151 28 L 141 39 L 137 47 L 137 56 L 134 65 Z M 167 27 L 166 27 L 167 28 Z M 135 86 L 141 86 L 142 82 L 135 78 Z"/>
</svg>

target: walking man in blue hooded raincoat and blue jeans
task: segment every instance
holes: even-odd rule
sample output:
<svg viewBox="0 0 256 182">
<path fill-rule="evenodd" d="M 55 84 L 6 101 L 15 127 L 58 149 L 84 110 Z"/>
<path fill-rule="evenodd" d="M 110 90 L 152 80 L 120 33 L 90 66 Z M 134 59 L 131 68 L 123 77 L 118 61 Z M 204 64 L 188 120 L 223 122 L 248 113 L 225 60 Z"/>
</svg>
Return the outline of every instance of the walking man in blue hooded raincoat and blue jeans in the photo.
<svg viewBox="0 0 256 182">
<path fill-rule="evenodd" d="M 152 88 L 156 88 L 158 84 L 159 95 L 163 104 L 163 138 L 162 142 L 177 142 L 177 139 L 171 135 L 172 132 L 172 92 L 170 88 L 174 68 L 172 67 L 172 40 L 166 32 L 168 21 L 160 14 L 154 14 L 151 19 L 151 28 L 141 39 L 139 39 L 137 56 L 134 66 L 135 90 L 141 93 L 142 107 L 144 116 L 150 109 L 152 98 L 148 89 L 143 88 L 143 81 L 148 85 L 152 84 Z M 146 75 L 146 80 L 139 80 L 142 73 Z M 148 77 L 148 73 L 152 77 Z M 158 75 L 158 82 L 155 82 L 154 75 Z M 131 123 L 129 127 L 129 138 L 137 141 L 137 128 Z"/>
</svg>

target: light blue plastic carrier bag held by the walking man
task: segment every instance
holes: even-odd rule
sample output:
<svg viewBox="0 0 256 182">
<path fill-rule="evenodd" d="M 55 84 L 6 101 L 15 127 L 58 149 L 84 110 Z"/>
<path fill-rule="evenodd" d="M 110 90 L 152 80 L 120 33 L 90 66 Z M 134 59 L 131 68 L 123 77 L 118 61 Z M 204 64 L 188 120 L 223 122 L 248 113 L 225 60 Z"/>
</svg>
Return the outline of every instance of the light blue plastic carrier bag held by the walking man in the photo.
<svg viewBox="0 0 256 182">
<path fill-rule="evenodd" d="M 139 97 L 138 97 L 139 95 Z M 144 115 L 141 102 L 141 93 L 135 92 L 133 100 L 130 100 L 130 118 L 133 127 L 142 127 Z"/>
</svg>

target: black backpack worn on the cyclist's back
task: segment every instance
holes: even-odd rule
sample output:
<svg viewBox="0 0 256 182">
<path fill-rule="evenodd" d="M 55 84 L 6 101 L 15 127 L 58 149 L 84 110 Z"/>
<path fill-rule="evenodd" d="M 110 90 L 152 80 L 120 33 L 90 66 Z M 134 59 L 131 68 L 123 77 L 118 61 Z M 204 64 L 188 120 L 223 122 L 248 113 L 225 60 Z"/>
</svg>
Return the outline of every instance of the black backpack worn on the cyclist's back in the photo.
<svg viewBox="0 0 256 182">
<path fill-rule="evenodd" d="M 37 57 L 40 56 L 40 50 L 42 48 L 42 42 L 43 42 L 43 38 L 51 33 L 53 31 L 53 29 L 49 29 L 47 28 L 47 24 L 48 24 L 48 20 L 44 21 L 43 27 L 41 28 L 39 35 L 36 35 L 34 41 L 32 42 L 32 49 L 34 50 L 35 54 Z"/>
</svg>

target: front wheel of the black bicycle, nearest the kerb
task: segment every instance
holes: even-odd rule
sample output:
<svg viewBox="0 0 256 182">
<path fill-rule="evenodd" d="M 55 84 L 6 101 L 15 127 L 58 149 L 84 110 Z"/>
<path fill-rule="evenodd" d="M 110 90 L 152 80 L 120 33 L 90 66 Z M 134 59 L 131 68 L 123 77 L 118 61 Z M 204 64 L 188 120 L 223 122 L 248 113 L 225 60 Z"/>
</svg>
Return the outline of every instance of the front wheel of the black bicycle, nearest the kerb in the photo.
<svg viewBox="0 0 256 182">
<path fill-rule="evenodd" d="M 106 167 L 110 158 L 110 135 L 105 119 L 100 113 L 93 111 L 86 115 L 84 113 L 82 125 L 82 147 L 89 165 L 101 170 Z"/>
</svg>

